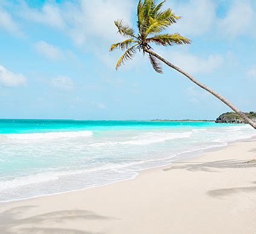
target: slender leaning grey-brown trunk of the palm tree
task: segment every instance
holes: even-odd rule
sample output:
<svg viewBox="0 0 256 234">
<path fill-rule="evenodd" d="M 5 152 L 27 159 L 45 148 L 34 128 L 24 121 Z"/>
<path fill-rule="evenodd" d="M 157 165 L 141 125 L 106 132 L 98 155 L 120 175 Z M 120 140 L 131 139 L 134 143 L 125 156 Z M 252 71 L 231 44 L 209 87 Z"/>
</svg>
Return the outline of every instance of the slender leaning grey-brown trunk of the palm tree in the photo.
<svg viewBox="0 0 256 234">
<path fill-rule="evenodd" d="M 209 93 L 213 94 L 214 96 L 217 97 L 217 99 L 221 100 L 222 102 L 224 102 L 226 105 L 228 105 L 233 111 L 235 111 L 240 117 L 242 117 L 246 123 L 249 123 L 249 125 L 252 126 L 252 128 L 256 129 L 256 123 L 254 123 L 251 119 L 249 119 L 242 111 L 240 111 L 240 109 L 238 109 L 237 107 L 235 107 L 231 102 L 229 102 L 228 99 L 226 99 L 225 97 L 223 97 L 222 95 L 220 95 L 219 93 L 217 93 L 216 91 L 212 90 L 210 87 L 200 83 L 199 81 L 197 81 L 196 79 L 193 78 L 193 76 L 191 76 L 190 74 L 188 74 L 187 72 L 184 72 L 184 70 L 180 69 L 179 67 L 174 66 L 173 64 L 169 63 L 167 60 L 165 60 L 164 58 L 162 58 L 160 55 L 156 54 L 153 51 L 150 51 L 149 49 L 145 49 L 145 52 L 155 56 L 156 58 L 158 58 L 159 60 L 161 60 L 162 62 L 164 62 L 165 64 L 167 64 L 169 67 L 177 70 L 178 72 L 182 73 L 183 75 L 187 76 L 188 79 L 190 79 L 192 82 L 194 82 L 195 84 L 197 84 L 199 87 L 203 88 L 204 90 L 208 91 Z"/>
</svg>

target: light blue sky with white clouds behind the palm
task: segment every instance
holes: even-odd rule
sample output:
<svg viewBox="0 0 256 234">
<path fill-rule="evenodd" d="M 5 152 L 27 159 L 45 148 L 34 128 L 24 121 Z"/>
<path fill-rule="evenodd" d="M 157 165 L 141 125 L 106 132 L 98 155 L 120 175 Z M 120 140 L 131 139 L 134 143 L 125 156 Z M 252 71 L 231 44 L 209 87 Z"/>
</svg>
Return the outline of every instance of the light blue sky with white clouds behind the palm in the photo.
<svg viewBox="0 0 256 234">
<path fill-rule="evenodd" d="M 147 56 L 115 71 L 123 38 L 113 21 L 136 25 L 135 0 L 0 2 L 0 118 L 215 119 L 229 108 Z M 167 0 L 182 16 L 169 32 L 193 43 L 155 48 L 173 64 L 256 111 L 256 2 Z"/>
</svg>

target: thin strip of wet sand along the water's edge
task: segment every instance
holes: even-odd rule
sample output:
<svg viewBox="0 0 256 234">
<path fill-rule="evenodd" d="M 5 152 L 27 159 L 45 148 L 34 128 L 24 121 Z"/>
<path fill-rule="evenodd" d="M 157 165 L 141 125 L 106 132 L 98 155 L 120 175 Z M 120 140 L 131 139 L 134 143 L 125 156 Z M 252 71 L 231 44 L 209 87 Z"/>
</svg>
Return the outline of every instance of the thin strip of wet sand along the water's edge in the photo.
<svg viewBox="0 0 256 234">
<path fill-rule="evenodd" d="M 235 141 L 229 141 L 229 142 L 225 143 L 226 144 L 225 146 L 214 146 L 214 147 L 210 147 L 210 148 L 206 148 L 206 149 L 197 149 L 197 150 L 192 150 L 192 151 L 189 151 L 189 152 L 178 153 L 177 155 L 175 155 L 171 158 L 177 158 L 179 156 L 187 155 L 187 154 L 188 154 L 188 156 L 186 156 L 184 158 L 173 159 L 172 162 L 167 162 L 167 164 L 164 164 L 164 165 L 159 165 L 159 166 L 149 167 L 149 168 L 142 168 L 141 170 L 135 170 L 134 172 L 136 173 L 136 175 L 133 176 L 133 177 L 130 177 L 128 179 L 121 179 L 121 180 L 117 180 L 117 181 L 114 181 L 114 182 L 105 183 L 103 185 L 92 185 L 92 186 L 89 186 L 88 188 L 74 189 L 74 190 L 69 190 L 69 191 L 64 191 L 64 192 L 56 192 L 56 193 L 53 193 L 53 194 L 43 194 L 43 195 L 39 195 L 39 196 L 26 197 L 26 198 L 23 198 L 23 199 L 13 199 L 13 200 L 0 201 L 0 205 L 4 204 L 4 203 L 11 203 L 11 202 L 19 202 L 19 201 L 30 200 L 30 199 L 37 199 L 37 198 L 40 198 L 40 197 L 56 196 L 56 195 L 59 195 L 59 194 L 66 194 L 66 193 L 69 193 L 69 192 L 83 191 L 83 190 L 88 190 L 88 189 L 97 188 L 97 187 L 101 187 L 101 186 L 112 185 L 113 183 L 120 183 L 120 182 L 125 182 L 127 180 L 134 180 L 143 171 L 153 170 L 155 168 L 167 167 L 167 166 L 170 166 L 171 164 L 182 162 L 185 159 L 197 158 L 197 157 L 202 156 L 204 153 L 216 152 L 216 151 L 221 150 L 225 147 L 232 146 L 232 144 L 240 143 L 240 142 L 243 142 L 243 141 L 246 141 L 246 140 L 256 140 L 256 137 L 253 136 L 253 137 L 238 139 L 238 140 L 235 140 Z M 168 159 L 168 158 L 166 158 L 166 159 Z"/>
</svg>

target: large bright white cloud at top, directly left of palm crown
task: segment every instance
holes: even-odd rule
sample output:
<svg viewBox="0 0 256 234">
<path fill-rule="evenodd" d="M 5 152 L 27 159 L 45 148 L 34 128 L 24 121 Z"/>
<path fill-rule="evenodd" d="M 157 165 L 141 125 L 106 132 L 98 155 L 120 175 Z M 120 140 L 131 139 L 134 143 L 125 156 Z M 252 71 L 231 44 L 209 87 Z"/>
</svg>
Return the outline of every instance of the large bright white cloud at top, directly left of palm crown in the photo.
<svg viewBox="0 0 256 234">
<path fill-rule="evenodd" d="M 91 49 L 88 45 L 97 45 L 93 49 L 105 47 L 120 39 L 114 20 L 124 19 L 130 23 L 134 6 L 134 2 L 129 0 L 84 0 L 78 4 L 63 4 L 61 12 L 68 25 L 65 32 L 76 45 L 84 46 L 85 49 Z M 100 41 L 102 39 L 104 42 Z"/>
</svg>

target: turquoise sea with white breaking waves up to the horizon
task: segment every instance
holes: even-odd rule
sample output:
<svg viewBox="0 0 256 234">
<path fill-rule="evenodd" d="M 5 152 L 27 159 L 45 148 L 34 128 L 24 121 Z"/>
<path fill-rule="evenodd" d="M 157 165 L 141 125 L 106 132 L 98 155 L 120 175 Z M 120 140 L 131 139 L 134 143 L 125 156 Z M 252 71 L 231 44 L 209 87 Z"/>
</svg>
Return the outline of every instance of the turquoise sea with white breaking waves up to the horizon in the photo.
<svg viewBox="0 0 256 234">
<path fill-rule="evenodd" d="M 255 135 L 212 122 L 0 120 L 0 202 L 132 179 Z"/>
</svg>

